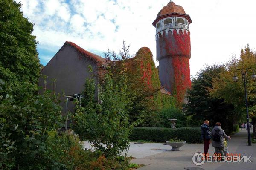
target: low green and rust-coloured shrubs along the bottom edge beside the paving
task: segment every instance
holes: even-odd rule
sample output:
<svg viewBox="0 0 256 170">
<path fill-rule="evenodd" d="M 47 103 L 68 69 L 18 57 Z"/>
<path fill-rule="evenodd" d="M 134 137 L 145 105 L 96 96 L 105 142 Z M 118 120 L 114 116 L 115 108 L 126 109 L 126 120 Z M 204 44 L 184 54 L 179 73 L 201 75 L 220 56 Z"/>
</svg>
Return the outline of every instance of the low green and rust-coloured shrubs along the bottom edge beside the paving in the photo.
<svg viewBox="0 0 256 170">
<path fill-rule="evenodd" d="M 78 135 L 70 130 L 62 133 L 50 132 L 47 146 L 47 156 L 54 162 L 54 167 L 49 166 L 52 164 L 45 167 L 47 170 L 125 170 L 130 160 L 123 156 L 108 159 L 99 150 L 84 150 Z"/>
</svg>

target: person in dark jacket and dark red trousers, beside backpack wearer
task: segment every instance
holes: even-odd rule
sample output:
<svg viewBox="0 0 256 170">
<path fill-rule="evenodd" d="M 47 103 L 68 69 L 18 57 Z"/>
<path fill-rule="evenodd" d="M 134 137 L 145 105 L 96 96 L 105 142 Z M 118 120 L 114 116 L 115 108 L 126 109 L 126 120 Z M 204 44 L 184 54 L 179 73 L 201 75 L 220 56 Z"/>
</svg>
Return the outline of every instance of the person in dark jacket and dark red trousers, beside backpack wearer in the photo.
<svg viewBox="0 0 256 170">
<path fill-rule="evenodd" d="M 207 156 L 211 141 L 211 131 L 209 123 L 209 121 L 205 120 L 204 124 L 201 125 L 201 140 L 204 140 L 204 156 Z"/>
</svg>

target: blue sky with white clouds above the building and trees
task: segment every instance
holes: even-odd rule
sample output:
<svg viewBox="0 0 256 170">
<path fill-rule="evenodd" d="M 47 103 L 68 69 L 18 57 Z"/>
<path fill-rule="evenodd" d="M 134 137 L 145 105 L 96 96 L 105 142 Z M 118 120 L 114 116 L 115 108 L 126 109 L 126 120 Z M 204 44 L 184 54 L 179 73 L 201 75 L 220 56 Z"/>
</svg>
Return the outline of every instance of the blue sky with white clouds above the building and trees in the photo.
<svg viewBox="0 0 256 170">
<path fill-rule="evenodd" d="M 118 51 L 122 40 L 130 53 L 149 47 L 156 66 L 154 26 L 157 13 L 169 0 L 17 0 L 24 17 L 35 23 L 33 35 L 43 65 L 65 41 L 104 57 Z M 205 65 L 237 58 L 247 44 L 256 48 L 255 0 L 173 0 L 189 14 L 192 23 L 190 72 Z"/>
</svg>

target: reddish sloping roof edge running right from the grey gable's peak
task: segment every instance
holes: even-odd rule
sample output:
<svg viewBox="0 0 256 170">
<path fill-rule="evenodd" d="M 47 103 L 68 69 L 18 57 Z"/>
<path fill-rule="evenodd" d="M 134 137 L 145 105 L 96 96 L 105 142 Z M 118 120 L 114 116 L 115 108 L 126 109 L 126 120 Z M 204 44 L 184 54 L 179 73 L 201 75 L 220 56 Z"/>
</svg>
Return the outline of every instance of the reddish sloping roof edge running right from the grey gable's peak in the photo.
<svg viewBox="0 0 256 170">
<path fill-rule="evenodd" d="M 99 55 L 96 55 L 96 54 L 93 54 L 91 52 L 88 52 L 86 51 L 85 49 L 81 48 L 80 46 L 76 45 L 75 43 L 72 43 L 70 41 L 66 41 L 64 43 L 64 45 L 69 45 L 69 46 L 72 46 L 74 47 L 79 53 L 81 53 L 81 55 L 83 55 L 84 57 L 86 58 L 90 58 L 92 59 L 93 61 L 95 61 L 96 63 L 98 63 L 100 66 L 101 65 L 104 65 L 105 62 L 106 62 L 106 59 L 105 58 L 102 58 L 101 56 Z"/>
</svg>

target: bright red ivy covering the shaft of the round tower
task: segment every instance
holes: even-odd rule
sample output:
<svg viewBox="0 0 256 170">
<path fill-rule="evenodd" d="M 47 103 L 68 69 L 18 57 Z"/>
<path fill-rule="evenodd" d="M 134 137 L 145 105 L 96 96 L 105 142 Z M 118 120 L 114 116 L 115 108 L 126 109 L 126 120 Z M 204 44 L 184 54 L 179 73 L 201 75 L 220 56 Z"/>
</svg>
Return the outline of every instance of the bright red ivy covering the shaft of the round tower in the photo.
<svg viewBox="0 0 256 170">
<path fill-rule="evenodd" d="M 186 90 L 191 88 L 190 80 L 190 32 L 183 32 L 181 29 L 179 33 L 177 30 L 173 32 L 168 31 L 159 34 L 157 38 L 158 43 L 158 60 L 160 61 L 160 67 L 172 68 L 172 71 L 163 72 L 160 74 L 167 74 L 167 83 L 163 86 L 168 89 L 176 98 L 176 105 L 181 106 L 183 99 L 185 98 Z M 170 62 L 161 62 L 163 58 L 168 58 Z M 169 66 L 171 64 L 171 66 Z M 169 75 L 168 75 L 169 74 Z"/>
</svg>

